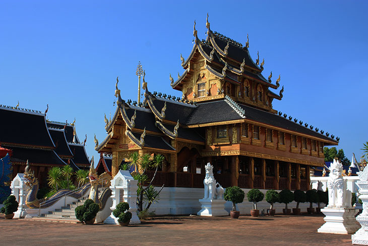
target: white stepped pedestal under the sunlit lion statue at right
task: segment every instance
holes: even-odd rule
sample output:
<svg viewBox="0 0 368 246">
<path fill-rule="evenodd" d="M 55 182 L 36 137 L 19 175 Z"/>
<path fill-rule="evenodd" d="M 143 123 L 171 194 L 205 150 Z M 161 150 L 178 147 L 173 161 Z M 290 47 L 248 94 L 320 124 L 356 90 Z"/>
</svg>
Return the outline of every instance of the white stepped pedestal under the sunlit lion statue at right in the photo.
<svg viewBox="0 0 368 246">
<path fill-rule="evenodd" d="M 332 208 L 321 209 L 321 212 L 326 215 L 326 221 L 317 231 L 321 233 L 335 234 L 351 234 L 360 228 L 360 225 L 355 220 L 355 215 L 358 212 L 353 208 Z"/>
</svg>

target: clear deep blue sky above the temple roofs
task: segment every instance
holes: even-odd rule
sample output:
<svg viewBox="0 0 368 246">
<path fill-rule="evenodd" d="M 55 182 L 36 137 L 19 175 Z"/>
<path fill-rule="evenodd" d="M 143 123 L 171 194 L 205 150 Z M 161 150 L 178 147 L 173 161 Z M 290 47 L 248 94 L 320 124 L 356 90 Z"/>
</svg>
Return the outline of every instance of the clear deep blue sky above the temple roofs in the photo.
<svg viewBox="0 0 368 246">
<path fill-rule="evenodd" d="M 80 140 L 106 137 L 103 115 L 121 96 L 137 100 L 138 61 L 151 91 L 180 95 L 169 73 L 183 69 L 193 24 L 238 42 L 250 39 L 264 76 L 281 74 L 284 97 L 274 109 L 340 137 L 338 149 L 357 159 L 368 141 L 367 1 L 1 1 L 0 104 L 76 118 Z M 124 88 L 124 89 L 123 89 Z M 275 100 L 277 101 L 277 100 Z"/>
</svg>

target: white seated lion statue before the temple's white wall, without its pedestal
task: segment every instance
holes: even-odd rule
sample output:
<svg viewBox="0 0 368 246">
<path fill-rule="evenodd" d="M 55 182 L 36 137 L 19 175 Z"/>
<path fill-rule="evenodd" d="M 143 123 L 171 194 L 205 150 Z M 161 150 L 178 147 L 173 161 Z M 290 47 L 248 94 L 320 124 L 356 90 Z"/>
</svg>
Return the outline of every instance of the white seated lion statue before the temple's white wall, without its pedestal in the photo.
<svg viewBox="0 0 368 246">
<path fill-rule="evenodd" d="M 205 196 L 203 199 L 222 199 L 224 188 L 222 188 L 222 186 L 217 183 L 216 179 L 213 177 L 213 166 L 211 166 L 210 163 L 207 163 L 205 169 L 206 176 L 203 180 L 205 185 Z"/>
</svg>

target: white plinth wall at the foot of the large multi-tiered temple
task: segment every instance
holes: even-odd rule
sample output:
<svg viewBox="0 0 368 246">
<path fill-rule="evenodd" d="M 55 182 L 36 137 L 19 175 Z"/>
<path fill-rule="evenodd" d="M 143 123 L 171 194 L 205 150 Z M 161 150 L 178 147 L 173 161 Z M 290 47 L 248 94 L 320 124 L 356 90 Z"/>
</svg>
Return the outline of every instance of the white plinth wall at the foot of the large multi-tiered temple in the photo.
<svg viewBox="0 0 368 246">
<path fill-rule="evenodd" d="M 155 187 L 157 190 L 159 187 Z M 240 214 L 250 214 L 252 209 L 252 203 L 248 202 L 247 192 L 250 189 L 242 189 L 246 193 L 244 201 L 241 204 L 236 204 Z M 265 195 L 267 189 L 260 189 Z M 277 190 L 280 192 L 281 190 Z M 196 215 L 201 210 L 201 203 L 199 199 L 203 199 L 204 188 L 184 188 L 184 187 L 164 187 L 160 193 L 157 203 L 152 204 L 149 211 L 155 211 L 156 215 Z M 230 211 L 232 207 L 231 202 L 225 203 L 225 210 Z M 262 202 L 257 203 L 258 209 L 261 211 L 270 208 L 270 204 L 264 199 Z M 309 203 L 299 204 L 301 212 L 306 212 L 306 208 L 309 207 Z M 317 208 L 317 204 L 313 205 Z M 276 213 L 282 213 L 282 209 L 285 208 L 285 204 L 276 203 L 274 209 Z M 287 205 L 288 209 L 296 208 L 296 203 L 292 202 Z"/>
</svg>

